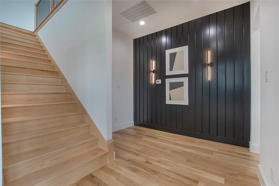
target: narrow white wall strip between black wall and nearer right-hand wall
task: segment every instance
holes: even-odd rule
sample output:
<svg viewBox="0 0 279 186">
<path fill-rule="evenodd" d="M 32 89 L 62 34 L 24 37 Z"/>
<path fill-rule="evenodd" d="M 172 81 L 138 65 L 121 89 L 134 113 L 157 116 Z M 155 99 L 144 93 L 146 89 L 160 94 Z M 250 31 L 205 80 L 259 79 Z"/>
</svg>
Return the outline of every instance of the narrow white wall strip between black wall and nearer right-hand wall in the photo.
<svg viewBox="0 0 279 186">
<path fill-rule="evenodd" d="M 259 6 L 251 3 L 251 140 L 250 151 L 260 145 L 260 28 Z"/>
</svg>

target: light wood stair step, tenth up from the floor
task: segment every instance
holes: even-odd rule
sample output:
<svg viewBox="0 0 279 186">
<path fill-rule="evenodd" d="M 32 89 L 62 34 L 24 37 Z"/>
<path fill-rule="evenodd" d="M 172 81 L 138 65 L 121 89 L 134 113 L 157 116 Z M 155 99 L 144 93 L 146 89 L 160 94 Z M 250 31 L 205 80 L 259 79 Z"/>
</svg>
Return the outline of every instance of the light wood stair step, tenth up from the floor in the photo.
<svg viewBox="0 0 279 186">
<path fill-rule="evenodd" d="M 28 60 L 20 60 L 10 57 L 1 57 L 1 64 L 13 65 L 13 66 L 23 66 L 27 68 L 35 68 L 35 69 L 48 69 L 53 70 L 54 64 L 49 63 L 41 63 L 35 61 L 28 61 Z"/>
</svg>

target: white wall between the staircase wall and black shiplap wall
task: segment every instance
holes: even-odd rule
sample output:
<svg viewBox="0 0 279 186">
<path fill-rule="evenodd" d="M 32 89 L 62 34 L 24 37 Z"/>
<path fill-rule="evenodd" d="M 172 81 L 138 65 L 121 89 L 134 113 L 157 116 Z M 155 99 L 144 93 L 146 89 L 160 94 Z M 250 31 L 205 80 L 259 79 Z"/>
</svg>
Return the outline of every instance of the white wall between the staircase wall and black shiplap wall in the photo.
<svg viewBox="0 0 279 186">
<path fill-rule="evenodd" d="M 112 131 L 134 125 L 133 39 L 115 29 L 112 30 L 112 116 Z"/>
</svg>

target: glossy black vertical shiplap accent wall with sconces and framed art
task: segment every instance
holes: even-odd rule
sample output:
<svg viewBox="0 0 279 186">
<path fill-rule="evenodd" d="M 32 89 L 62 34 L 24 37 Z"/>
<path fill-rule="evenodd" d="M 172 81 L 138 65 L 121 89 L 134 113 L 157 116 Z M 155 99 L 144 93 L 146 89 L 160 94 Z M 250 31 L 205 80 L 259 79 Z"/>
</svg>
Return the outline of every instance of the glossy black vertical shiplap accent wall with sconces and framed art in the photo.
<svg viewBox="0 0 279 186">
<path fill-rule="evenodd" d="M 189 74 L 166 76 L 165 51 L 182 46 L 189 46 Z M 136 38 L 133 47 L 135 125 L 249 146 L 250 2 Z M 161 84 L 151 83 L 153 60 Z M 182 77 L 189 77 L 189 105 L 166 104 L 165 79 Z"/>
</svg>

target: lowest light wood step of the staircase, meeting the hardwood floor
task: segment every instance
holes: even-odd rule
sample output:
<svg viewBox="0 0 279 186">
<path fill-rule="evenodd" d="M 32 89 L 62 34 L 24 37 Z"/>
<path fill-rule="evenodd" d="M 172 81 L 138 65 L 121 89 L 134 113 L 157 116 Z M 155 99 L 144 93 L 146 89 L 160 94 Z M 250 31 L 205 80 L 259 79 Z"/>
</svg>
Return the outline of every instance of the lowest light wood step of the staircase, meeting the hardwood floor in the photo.
<svg viewBox="0 0 279 186">
<path fill-rule="evenodd" d="M 84 172 L 82 169 L 79 168 L 83 165 L 89 164 L 91 166 L 91 170 L 94 168 L 99 169 L 102 166 L 105 166 L 107 164 L 107 153 L 107 151 L 102 150 L 101 148 L 95 148 L 88 152 L 58 162 L 52 166 L 46 167 L 44 169 L 38 170 L 21 178 L 15 179 L 11 182 L 7 182 L 5 183 L 5 186 L 56 185 L 57 180 L 61 181 L 61 179 L 65 179 L 65 176 L 62 175 L 66 175 L 67 173 L 71 173 L 73 177 L 77 179 L 87 174 L 87 171 Z M 71 178 L 71 175 L 67 174 L 67 178 Z M 62 183 L 62 185 L 68 185 L 68 181 Z"/>
</svg>

